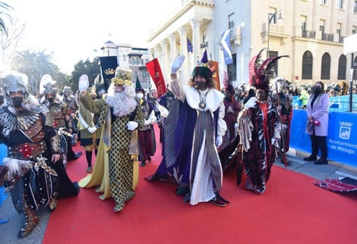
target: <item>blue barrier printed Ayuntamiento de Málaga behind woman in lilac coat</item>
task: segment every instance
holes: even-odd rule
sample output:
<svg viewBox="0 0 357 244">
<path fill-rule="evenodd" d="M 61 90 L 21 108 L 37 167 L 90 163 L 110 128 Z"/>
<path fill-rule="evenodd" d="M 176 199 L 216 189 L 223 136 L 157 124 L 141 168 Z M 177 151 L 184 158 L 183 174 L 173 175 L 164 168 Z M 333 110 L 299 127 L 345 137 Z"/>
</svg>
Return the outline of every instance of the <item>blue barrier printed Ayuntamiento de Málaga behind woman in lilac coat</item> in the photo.
<svg viewBox="0 0 357 244">
<path fill-rule="evenodd" d="M 307 114 L 294 109 L 290 129 L 290 148 L 311 152 L 309 134 L 305 133 Z M 328 159 L 357 168 L 357 113 L 330 112 L 328 116 Z"/>
</svg>

